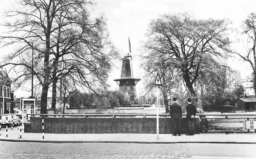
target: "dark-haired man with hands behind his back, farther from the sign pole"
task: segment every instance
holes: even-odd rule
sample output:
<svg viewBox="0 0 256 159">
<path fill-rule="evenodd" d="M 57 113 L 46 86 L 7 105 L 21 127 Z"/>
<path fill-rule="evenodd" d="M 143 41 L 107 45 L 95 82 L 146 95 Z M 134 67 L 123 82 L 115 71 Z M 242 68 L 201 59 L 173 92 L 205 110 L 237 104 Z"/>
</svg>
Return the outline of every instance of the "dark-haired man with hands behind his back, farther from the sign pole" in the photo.
<svg viewBox="0 0 256 159">
<path fill-rule="evenodd" d="M 196 112 L 196 106 L 192 104 L 191 98 L 188 98 L 188 105 L 186 105 L 186 120 L 188 122 L 188 134 L 186 135 L 194 135 L 194 118 Z"/>
</svg>

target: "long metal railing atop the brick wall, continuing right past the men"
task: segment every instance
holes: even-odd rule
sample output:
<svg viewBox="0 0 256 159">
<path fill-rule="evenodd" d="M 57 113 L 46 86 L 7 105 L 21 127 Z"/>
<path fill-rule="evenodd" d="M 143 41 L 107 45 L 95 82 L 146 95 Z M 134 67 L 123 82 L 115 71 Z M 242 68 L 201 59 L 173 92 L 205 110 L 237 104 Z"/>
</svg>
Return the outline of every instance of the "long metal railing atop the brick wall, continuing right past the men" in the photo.
<svg viewBox="0 0 256 159">
<path fill-rule="evenodd" d="M 201 131 L 203 133 L 211 132 L 242 132 L 242 133 L 256 133 L 256 114 L 196 114 L 201 118 Z M 82 117 L 82 118 L 122 118 L 122 117 L 136 117 L 136 118 L 147 118 L 155 117 L 156 114 L 27 114 L 27 120 L 29 122 L 30 117 L 44 116 L 44 117 Z M 186 114 L 182 114 L 186 116 Z M 159 117 L 170 117 L 169 114 L 159 114 Z M 226 124 L 226 127 L 223 126 Z M 233 123 L 236 126 L 229 126 Z M 242 126 L 237 126 L 242 124 Z M 221 126 L 222 125 L 222 126 Z M 227 126 L 228 125 L 228 126 Z"/>
</svg>

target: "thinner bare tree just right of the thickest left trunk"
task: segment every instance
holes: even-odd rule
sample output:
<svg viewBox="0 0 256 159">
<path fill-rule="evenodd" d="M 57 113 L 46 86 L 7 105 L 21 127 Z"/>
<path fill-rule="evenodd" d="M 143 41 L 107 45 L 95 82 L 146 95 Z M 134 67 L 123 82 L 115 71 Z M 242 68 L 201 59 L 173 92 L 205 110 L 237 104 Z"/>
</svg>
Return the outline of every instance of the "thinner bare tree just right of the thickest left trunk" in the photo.
<svg viewBox="0 0 256 159">
<path fill-rule="evenodd" d="M 79 84 L 95 92 L 92 85 L 96 82 L 106 87 L 111 58 L 115 57 L 102 16 L 93 22 L 88 11 L 83 10 L 72 12 L 67 19 L 67 10 L 63 8 L 56 18 L 59 28 L 54 41 L 56 50 L 53 51 L 52 108 L 56 104 L 56 84 L 59 79 L 68 76 L 74 85 Z M 63 23 L 71 23 L 71 19 L 72 25 L 65 26 L 63 30 Z"/>
</svg>

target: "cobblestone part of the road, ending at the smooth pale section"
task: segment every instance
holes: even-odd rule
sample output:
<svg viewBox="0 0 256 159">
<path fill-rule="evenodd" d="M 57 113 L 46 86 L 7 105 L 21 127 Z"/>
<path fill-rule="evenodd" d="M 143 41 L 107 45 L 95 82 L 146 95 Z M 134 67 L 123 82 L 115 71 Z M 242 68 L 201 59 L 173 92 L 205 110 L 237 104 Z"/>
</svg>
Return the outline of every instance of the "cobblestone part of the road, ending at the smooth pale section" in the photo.
<svg viewBox="0 0 256 159">
<path fill-rule="evenodd" d="M 0 158 L 192 159 L 186 144 L 1 142 Z"/>
</svg>

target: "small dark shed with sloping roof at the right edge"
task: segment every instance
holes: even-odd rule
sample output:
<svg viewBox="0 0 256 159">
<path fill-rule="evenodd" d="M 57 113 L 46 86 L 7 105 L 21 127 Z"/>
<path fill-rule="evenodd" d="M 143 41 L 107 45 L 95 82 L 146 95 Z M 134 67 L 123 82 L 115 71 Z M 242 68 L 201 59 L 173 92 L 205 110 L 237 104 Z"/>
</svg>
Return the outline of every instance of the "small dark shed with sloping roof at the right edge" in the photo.
<svg viewBox="0 0 256 159">
<path fill-rule="evenodd" d="M 239 98 L 239 101 L 237 102 L 238 108 L 243 108 L 243 110 L 246 111 L 255 111 L 256 108 L 256 98 L 255 97 L 247 97 L 247 98 Z"/>
</svg>

